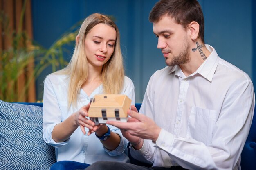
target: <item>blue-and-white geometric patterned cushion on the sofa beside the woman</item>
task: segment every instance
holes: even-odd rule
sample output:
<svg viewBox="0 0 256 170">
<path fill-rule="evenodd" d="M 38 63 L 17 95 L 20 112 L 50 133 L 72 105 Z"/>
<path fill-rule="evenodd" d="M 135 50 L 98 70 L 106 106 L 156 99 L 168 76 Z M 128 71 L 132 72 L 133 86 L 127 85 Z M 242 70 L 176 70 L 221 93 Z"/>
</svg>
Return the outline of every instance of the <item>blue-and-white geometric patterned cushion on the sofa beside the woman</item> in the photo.
<svg viewBox="0 0 256 170">
<path fill-rule="evenodd" d="M 55 150 L 42 135 L 43 107 L 0 100 L 0 170 L 46 170 Z"/>
</svg>

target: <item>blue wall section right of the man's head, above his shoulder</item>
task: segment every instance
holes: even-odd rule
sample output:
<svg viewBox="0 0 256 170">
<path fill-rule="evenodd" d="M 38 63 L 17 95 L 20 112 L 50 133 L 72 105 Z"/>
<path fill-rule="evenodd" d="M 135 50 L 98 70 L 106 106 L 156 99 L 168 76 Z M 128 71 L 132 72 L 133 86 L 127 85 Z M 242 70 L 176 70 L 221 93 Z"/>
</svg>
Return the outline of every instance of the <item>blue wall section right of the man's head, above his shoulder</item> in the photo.
<svg viewBox="0 0 256 170">
<path fill-rule="evenodd" d="M 252 1 L 205 0 L 205 39 L 252 78 Z"/>
</svg>

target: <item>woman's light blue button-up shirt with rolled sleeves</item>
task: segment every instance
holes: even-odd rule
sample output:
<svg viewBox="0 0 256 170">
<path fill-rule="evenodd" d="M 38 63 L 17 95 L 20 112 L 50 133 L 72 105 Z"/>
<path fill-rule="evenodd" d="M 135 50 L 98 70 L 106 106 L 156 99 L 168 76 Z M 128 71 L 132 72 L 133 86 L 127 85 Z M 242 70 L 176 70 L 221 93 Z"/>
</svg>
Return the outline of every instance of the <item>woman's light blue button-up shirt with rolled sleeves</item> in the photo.
<svg viewBox="0 0 256 170">
<path fill-rule="evenodd" d="M 80 127 L 65 142 L 55 142 L 52 139 L 52 130 L 56 124 L 63 122 L 72 113 L 87 105 L 90 102 L 90 98 L 93 98 L 95 94 L 103 94 L 102 85 L 95 89 L 90 96 L 80 89 L 77 107 L 71 106 L 68 109 L 68 82 L 68 76 L 56 74 L 50 74 L 45 78 L 44 82 L 43 138 L 47 144 L 55 147 L 56 160 L 70 160 L 88 164 L 101 160 L 129 162 L 126 148 L 128 141 L 122 136 L 121 131 L 112 125 L 107 126 L 121 137 L 119 146 L 112 151 L 106 149 L 95 134 L 90 136 L 83 135 Z M 134 85 L 130 78 L 126 76 L 124 78 L 124 87 L 120 94 L 126 94 L 132 100 L 132 105 L 135 105 Z M 85 131 L 88 132 L 88 129 L 85 128 Z"/>
</svg>

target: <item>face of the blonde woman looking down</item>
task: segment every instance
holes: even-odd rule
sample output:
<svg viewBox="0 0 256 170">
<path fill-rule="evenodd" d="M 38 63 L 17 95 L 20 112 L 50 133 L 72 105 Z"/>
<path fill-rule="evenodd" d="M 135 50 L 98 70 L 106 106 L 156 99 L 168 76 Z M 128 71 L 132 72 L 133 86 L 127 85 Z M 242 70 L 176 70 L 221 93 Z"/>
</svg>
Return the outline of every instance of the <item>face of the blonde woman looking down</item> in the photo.
<svg viewBox="0 0 256 170">
<path fill-rule="evenodd" d="M 106 24 L 95 25 L 85 37 L 85 54 L 89 66 L 102 67 L 115 50 L 117 32 Z"/>
</svg>

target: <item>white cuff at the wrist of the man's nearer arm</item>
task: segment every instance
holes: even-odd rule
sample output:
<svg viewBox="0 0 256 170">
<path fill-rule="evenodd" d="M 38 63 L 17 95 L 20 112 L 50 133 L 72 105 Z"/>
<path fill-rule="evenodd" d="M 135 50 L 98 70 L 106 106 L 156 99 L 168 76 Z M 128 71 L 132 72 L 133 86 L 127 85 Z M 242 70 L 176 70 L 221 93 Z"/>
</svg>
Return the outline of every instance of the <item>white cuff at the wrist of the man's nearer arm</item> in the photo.
<svg viewBox="0 0 256 170">
<path fill-rule="evenodd" d="M 173 145 L 174 138 L 175 135 L 164 129 L 161 129 L 154 147 L 161 148 L 163 150 L 170 150 L 171 146 Z"/>
</svg>

